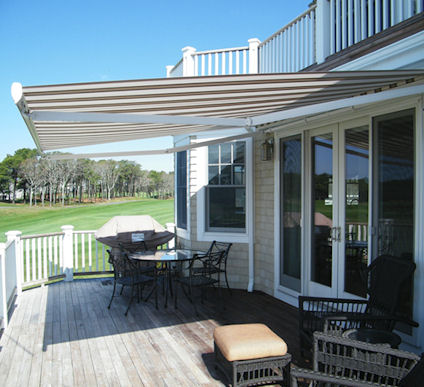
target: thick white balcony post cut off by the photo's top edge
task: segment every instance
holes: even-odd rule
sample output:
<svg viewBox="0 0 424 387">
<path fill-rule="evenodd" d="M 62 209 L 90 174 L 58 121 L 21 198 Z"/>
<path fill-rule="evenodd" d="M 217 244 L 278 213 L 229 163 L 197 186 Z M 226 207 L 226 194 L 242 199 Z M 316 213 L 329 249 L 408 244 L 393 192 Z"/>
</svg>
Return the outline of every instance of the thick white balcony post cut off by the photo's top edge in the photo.
<svg viewBox="0 0 424 387">
<path fill-rule="evenodd" d="M 322 63 L 330 55 L 330 3 L 328 0 L 317 0 L 316 8 L 316 36 L 315 36 L 315 59 Z"/>
</svg>

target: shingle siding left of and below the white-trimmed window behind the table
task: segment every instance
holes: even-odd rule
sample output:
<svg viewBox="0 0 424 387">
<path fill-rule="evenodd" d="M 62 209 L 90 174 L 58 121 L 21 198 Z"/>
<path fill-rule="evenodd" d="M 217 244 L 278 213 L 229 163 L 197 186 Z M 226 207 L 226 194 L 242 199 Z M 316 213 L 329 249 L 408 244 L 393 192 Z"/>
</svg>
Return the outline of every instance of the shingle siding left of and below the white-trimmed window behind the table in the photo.
<svg viewBox="0 0 424 387">
<path fill-rule="evenodd" d="M 179 238 L 179 245 L 195 250 L 207 250 L 211 242 L 197 240 L 197 176 L 204 171 L 199 170 L 198 150 L 190 151 L 190 238 Z M 228 282 L 233 289 L 247 289 L 249 283 L 249 250 L 247 243 L 234 243 L 231 247 L 227 263 Z M 224 279 L 222 277 L 221 279 Z"/>
</svg>

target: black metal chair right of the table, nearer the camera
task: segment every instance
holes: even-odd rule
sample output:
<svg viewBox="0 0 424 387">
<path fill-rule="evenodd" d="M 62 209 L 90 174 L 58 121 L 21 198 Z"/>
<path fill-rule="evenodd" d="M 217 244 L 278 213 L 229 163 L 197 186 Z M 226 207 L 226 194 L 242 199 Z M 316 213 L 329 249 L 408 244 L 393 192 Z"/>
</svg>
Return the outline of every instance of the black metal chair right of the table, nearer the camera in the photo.
<svg viewBox="0 0 424 387">
<path fill-rule="evenodd" d="M 216 264 L 220 265 L 220 261 L 223 259 L 225 254 L 225 251 L 215 251 L 209 253 L 209 258 L 211 261 L 216 262 Z M 193 259 L 189 262 L 188 270 L 186 270 L 186 273 L 188 272 L 187 276 L 184 276 L 184 270 L 180 271 L 180 275 L 176 277 L 175 281 L 177 282 L 177 286 L 175 286 L 175 297 L 174 297 L 174 306 L 177 309 L 177 293 L 178 293 L 178 284 L 182 288 L 185 296 L 189 299 L 189 301 L 193 304 L 194 311 L 196 315 L 198 315 L 198 310 L 196 307 L 196 303 L 194 301 L 194 292 L 193 290 L 195 288 L 200 289 L 200 301 L 203 303 L 204 300 L 204 291 L 206 288 L 213 287 L 218 284 L 219 280 L 216 278 L 213 274 L 214 272 L 214 266 L 212 265 L 205 265 L 202 267 L 202 270 L 195 270 L 196 268 L 196 261 L 202 260 L 204 256 L 199 256 L 196 259 Z M 218 287 L 219 292 L 221 291 L 221 288 Z M 219 295 L 221 297 L 221 294 Z"/>
</svg>

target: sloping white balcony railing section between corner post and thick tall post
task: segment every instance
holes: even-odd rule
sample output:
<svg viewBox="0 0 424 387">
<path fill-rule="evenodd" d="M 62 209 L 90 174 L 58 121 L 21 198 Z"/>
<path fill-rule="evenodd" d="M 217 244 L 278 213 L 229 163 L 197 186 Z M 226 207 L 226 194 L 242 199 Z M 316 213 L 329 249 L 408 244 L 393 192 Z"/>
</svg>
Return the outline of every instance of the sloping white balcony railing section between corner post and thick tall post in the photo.
<svg viewBox="0 0 424 387">
<path fill-rule="evenodd" d="M 315 63 L 315 9 L 306 12 L 259 45 L 259 72 L 296 72 Z"/>
</svg>

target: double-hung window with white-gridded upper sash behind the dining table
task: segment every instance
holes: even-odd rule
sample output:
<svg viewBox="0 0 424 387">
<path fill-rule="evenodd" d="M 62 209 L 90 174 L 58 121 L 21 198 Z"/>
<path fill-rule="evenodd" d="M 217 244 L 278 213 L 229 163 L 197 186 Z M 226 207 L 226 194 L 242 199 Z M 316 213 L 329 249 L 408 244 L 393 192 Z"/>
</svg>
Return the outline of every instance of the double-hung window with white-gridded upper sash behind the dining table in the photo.
<svg viewBox="0 0 424 387">
<path fill-rule="evenodd" d="M 208 148 L 206 230 L 246 230 L 246 143 L 237 141 Z"/>
</svg>

